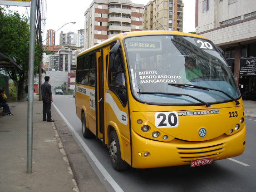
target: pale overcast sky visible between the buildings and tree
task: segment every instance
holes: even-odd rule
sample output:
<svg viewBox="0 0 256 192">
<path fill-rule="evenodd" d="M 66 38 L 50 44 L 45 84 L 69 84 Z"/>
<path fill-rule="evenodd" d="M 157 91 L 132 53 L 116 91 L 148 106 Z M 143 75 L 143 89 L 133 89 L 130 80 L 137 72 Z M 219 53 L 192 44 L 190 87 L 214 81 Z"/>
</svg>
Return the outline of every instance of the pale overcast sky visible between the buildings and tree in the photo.
<svg viewBox="0 0 256 192">
<path fill-rule="evenodd" d="M 92 0 L 44 0 L 47 2 L 46 24 L 44 27 L 44 37 L 46 39 L 46 30 L 58 30 L 62 25 L 69 22 L 76 24 L 68 24 L 58 30 L 55 34 L 55 44 L 59 44 L 59 33 L 63 31 L 74 31 L 84 29 L 84 12 L 89 8 Z M 146 5 L 149 0 L 133 0 L 133 3 Z M 185 4 L 183 13 L 183 32 L 195 31 L 195 0 L 182 0 Z M 20 14 L 25 14 L 25 7 L 10 6 L 10 10 L 18 10 Z M 27 8 L 30 15 L 30 8 Z M 45 18 L 42 18 L 45 19 Z M 46 41 L 44 41 L 44 44 Z"/>
</svg>

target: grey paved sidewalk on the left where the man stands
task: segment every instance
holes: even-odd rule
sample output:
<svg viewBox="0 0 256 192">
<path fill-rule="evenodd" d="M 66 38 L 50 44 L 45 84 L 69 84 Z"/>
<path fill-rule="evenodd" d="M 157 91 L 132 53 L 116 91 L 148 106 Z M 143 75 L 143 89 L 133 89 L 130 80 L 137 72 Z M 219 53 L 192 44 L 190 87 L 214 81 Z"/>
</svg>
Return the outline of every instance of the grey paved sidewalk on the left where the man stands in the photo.
<svg viewBox="0 0 256 192">
<path fill-rule="evenodd" d="M 54 123 L 42 121 L 38 95 L 34 94 L 32 174 L 26 173 L 28 103 L 23 99 L 9 106 L 14 115 L 0 116 L 0 191 L 78 192 Z"/>
</svg>

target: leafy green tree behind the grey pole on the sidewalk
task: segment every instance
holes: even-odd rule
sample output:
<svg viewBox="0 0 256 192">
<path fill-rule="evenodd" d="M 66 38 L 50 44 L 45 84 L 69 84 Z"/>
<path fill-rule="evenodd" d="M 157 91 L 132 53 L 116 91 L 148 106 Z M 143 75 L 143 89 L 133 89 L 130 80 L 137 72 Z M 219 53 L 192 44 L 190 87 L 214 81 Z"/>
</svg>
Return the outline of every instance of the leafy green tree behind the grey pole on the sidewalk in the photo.
<svg viewBox="0 0 256 192">
<path fill-rule="evenodd" d="M 14 81 L 19 101 L 23 96 L 24 82 L 28 79 L 29 70 L 29 18 L 20 16 L 17 11 L 9 10 L 7 13 L 0 7 L 0 53 L 7 57 L 14 56 L 16 63 L 22 66 L 21 70 L 8 71 Z M 42 60 L 40 48 L 35 44 L 34 74 L 38 74 L 39 60 Z"/>
</svg>

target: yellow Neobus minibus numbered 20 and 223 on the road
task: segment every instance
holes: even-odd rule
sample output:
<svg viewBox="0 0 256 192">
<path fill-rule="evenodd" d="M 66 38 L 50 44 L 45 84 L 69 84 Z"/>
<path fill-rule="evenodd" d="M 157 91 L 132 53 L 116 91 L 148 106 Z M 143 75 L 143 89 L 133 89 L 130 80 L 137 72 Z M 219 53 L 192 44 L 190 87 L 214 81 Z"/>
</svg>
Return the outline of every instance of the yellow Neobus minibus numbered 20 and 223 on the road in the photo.
<svg viewBox="0 0 256 192">
<path fill-rule="evenodd" d="M 174 31 L 117 34 L 77 58 L 76 113 L 84 138 L 113 168 L 210 164 L 241 155 L 241 94 L 223 51 Z"/>
</svg>

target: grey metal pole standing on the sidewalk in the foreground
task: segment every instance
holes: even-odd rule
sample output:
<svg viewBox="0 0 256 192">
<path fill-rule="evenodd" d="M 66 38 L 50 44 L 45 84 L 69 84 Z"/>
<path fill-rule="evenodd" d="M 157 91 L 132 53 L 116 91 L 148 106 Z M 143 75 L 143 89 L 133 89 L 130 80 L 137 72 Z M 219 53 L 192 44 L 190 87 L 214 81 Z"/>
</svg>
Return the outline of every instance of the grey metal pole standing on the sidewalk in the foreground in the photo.
<svg viewBox="0 0 256 192">
<path fill-rule="evenodd" d="M 35 12 L 36 0 L 31 0 L 30 7 L 30 45 L 29 45 L 29 100 L 27 126 L 27 173 L 32 173 L 32 144 L 33 144 L 33 105 L 34 105 L 34 41 L 35 41 Z"/>
</svg>

